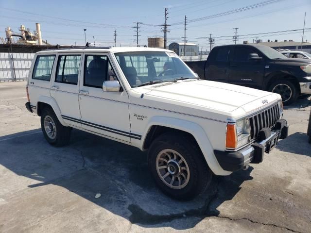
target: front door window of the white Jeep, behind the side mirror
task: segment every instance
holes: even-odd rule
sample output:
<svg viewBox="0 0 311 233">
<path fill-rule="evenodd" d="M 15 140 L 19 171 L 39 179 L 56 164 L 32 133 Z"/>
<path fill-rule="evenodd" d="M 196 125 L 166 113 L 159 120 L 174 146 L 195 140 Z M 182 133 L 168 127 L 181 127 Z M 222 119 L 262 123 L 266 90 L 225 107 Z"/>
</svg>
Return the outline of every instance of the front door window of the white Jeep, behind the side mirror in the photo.
<svg viewBox="0 0 311 233">
<path fill-rule="evenodd" d="M 102 88 L 104 81 L 117 80 L 109 59 L 104 55 L 86 55 L 84 85 Z"/>
</svg>

